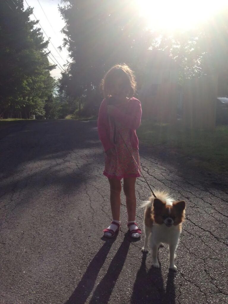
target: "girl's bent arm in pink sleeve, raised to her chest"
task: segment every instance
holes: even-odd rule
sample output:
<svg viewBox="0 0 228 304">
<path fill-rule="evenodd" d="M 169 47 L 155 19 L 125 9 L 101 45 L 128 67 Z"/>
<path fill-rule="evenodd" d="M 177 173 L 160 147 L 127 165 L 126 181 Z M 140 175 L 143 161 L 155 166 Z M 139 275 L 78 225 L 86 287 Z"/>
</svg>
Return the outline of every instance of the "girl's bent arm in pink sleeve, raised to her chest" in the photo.
<svg viewBox="0 0 228 304">
<path fill-rule="evenodd" d="M 141 102 L 138 99 L 134 99 L 132 102 L 131 114 L 124 114 L 117 107 L 113 107 L 111 116 L 118 120 L 123 126 L 136 130 L 140 126 L 142 108 Z"/>
</svg>

